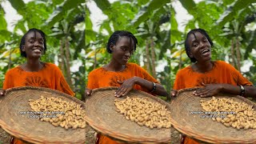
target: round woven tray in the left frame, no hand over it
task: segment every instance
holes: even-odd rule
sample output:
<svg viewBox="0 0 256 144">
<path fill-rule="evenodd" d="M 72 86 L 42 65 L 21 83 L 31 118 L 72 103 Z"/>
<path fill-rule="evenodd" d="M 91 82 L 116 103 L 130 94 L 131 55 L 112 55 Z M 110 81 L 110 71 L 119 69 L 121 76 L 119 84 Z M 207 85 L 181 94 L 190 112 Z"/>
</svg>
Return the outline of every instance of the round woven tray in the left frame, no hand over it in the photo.
<svg viewBox="0 0 256 144">
<path fill-rule="evenodd" d="M 85 109 L 85 103 L 58 90 L 42 87 L 16 87 L 6 90 L 6 96 L 0 98 L 0 126 L 7 133 L 26 142 L 33 143 L 85 143 L 86 129 L 69 129 L 55 127 L 50 122 L 41 122 L 38 118 L 27 118 L 32 111 L 29 99 L 41 96 L 63 98 L 65 101 L 77 102 Z"/>
</svg>

